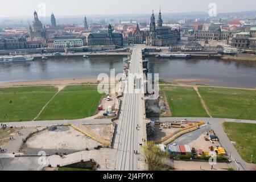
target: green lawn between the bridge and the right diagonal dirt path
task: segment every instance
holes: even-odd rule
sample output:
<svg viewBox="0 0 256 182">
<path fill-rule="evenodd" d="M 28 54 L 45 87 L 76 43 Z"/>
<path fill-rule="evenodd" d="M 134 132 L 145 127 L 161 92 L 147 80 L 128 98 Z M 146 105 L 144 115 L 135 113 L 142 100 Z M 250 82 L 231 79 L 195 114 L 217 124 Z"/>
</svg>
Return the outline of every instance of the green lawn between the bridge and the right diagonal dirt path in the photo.
<svg viewBox="0 0 256 182">
<path fill-rule="evenodd" d="M 196 91 L 191 87 L 161 86 L 170 106 L 172 117 L 209 117 Z"/>
</svg>

